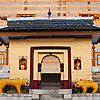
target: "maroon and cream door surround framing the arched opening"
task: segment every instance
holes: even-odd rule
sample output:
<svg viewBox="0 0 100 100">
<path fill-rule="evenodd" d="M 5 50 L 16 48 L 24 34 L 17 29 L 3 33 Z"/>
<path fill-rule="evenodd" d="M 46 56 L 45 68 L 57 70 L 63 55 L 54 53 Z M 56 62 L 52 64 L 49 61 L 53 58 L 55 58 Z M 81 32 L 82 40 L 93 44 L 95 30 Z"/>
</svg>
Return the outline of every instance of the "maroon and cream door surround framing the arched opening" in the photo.
<svg viewBox="0 0 100 100">
<path fill-rule="evenodd" d="M 60 72 L 45 73 L 45 70 L 42 69 L 42 63 L 43 59 L 48 56 L 55 56 L 58 58 Z M 70 47 L 31 47 L 30 58 L 30 89 L 41 89 L 41 76 L 43 74 L 61 74 L 61 89 L 71 89 Z"/>
</svg>

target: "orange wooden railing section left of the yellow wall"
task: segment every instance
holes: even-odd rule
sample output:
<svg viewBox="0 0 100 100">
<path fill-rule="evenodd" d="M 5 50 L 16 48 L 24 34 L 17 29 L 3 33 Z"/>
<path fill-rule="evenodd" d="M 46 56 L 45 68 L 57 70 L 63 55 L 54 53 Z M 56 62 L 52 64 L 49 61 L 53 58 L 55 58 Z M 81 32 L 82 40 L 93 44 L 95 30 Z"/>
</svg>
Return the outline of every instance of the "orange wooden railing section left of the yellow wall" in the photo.
<svg viewBox="0 0 100 100">
<path fill-rule="evenodd" d="M 9 65 L 8 47 L 0 46 L 0 65 Z"/>
</svg>

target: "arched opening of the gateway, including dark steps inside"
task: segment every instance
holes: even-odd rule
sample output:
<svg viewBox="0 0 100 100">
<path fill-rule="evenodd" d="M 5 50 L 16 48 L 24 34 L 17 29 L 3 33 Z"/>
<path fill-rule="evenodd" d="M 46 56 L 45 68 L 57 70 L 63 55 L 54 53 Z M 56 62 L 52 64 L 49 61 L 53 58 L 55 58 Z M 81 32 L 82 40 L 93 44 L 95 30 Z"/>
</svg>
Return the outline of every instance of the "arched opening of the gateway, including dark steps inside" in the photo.
<svg viewBox="0 0 100 100">
<path fill-rule="evenodd" d="M 60 89 L 60 59 L 49 53 L 43 57 L 41 64 L 41 89 Z"/>
</svg>

